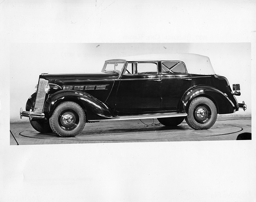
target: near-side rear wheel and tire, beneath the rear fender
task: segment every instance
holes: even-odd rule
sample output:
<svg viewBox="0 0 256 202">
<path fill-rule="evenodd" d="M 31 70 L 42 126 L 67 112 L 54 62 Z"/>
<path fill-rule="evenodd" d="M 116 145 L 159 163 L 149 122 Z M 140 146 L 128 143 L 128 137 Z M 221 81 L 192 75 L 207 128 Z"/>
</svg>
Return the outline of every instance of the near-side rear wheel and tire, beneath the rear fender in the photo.
<svg viewBox="0 0 256 202">
<path fill-rule="evenodd" d="M 189 105 L 186 116 L 187 124 L 195 130 L 206 130 L 213 126 L 217 119 L 215 104 L 206 97 L 197 97 Z"/>
</svg>

